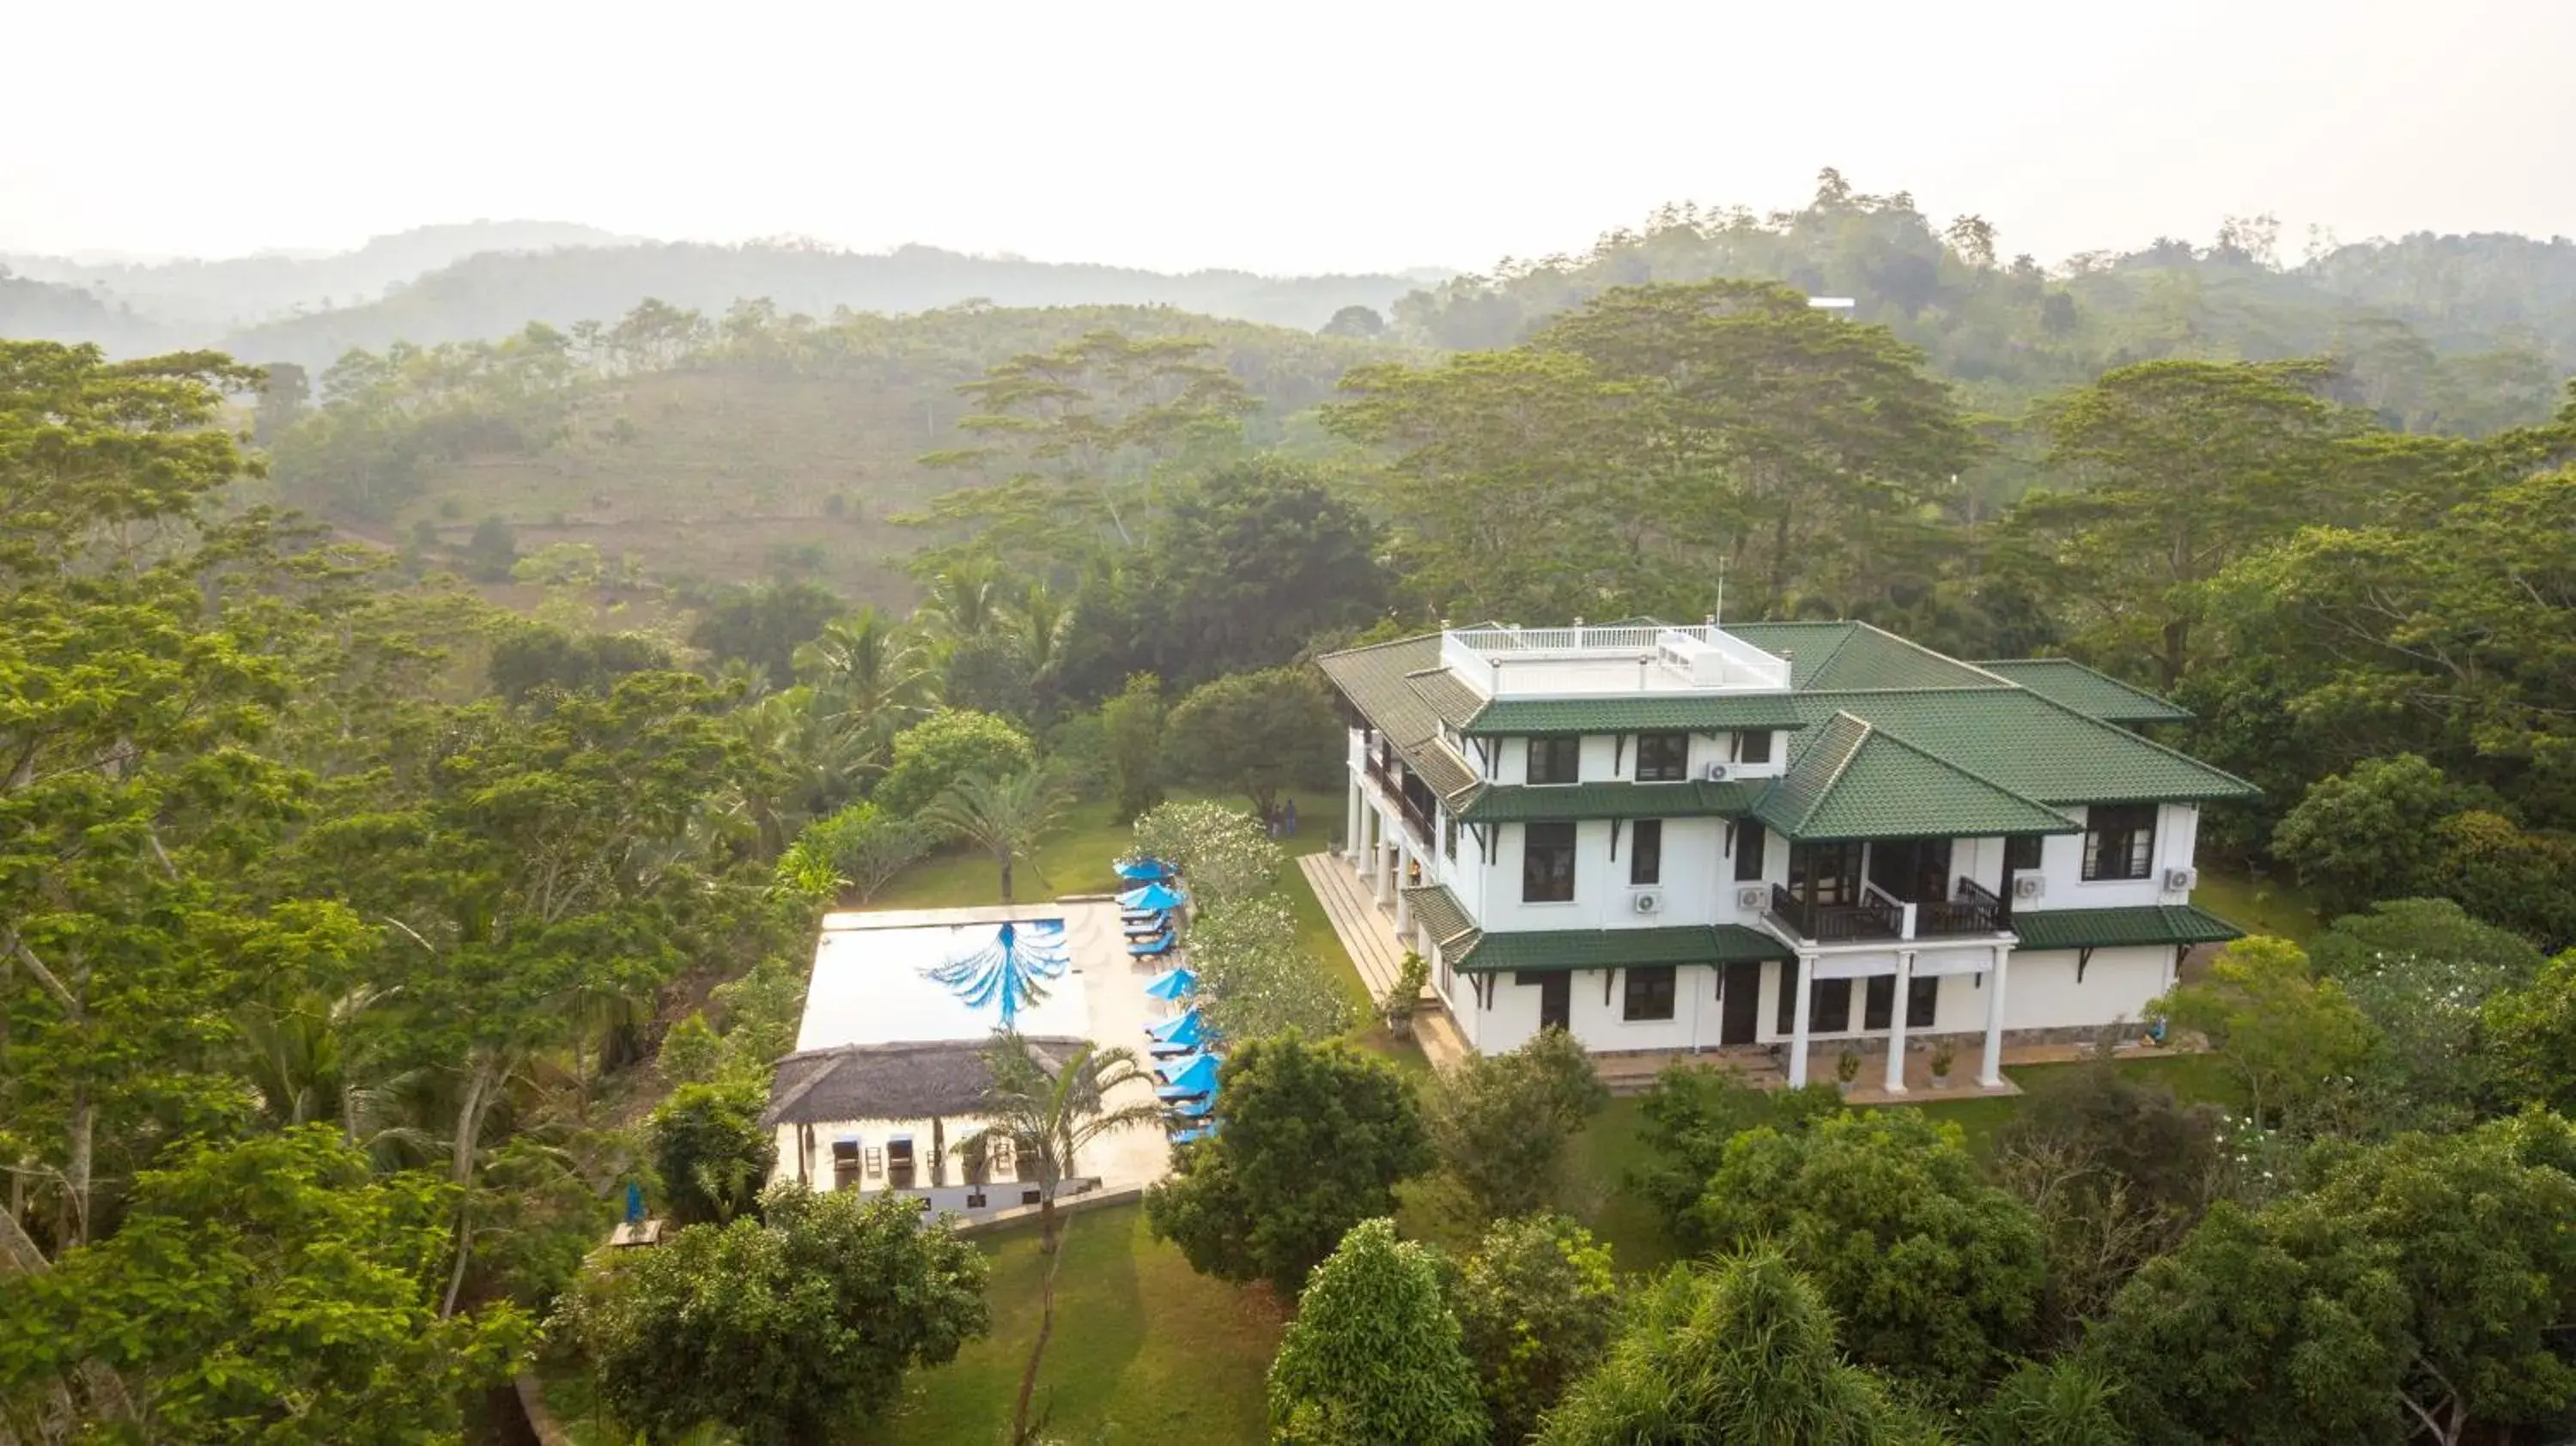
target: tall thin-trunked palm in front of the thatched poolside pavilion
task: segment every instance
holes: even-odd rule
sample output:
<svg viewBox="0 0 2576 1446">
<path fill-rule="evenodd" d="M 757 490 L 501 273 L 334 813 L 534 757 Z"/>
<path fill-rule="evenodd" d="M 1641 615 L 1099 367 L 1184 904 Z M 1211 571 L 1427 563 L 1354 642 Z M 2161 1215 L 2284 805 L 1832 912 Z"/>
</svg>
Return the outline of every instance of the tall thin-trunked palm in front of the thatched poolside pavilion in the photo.
<svg viewBox="0 0 2576 1446">
<path fill-rule="evenodd" d="M 1151 1083 L 1133 1049 L 1100 1049 L 1084 1041 L 1072 1059 L 1048 1070 L 1048 1062 L 1018 1031 L 992 1039 L 984 1052 L 992 1067 L 992 1093 L 984 1101 L 987 1124 L 956 1144 L 969 1170 L 979 1170 L 992 1157 L 992 1144 L 1007 1139 L 1018 1155 L 1020 1178 L 1038 1186 L 1038 1253 L 1046 1255 L 1046 1278 L 1038 1289 L 1038 1338 L 1028 1348 L 1028 1366 L 1020 1369 L 1020 1400 L 1010 1418 L 1012 1446 L 1033 1438 L 1028 1420 L 1030 1397 L 1038 1392 L 1038 1361 L 1046 1358 L 1046 1338 L 1056 1330 L 1056 1271 L 1064 1266 L 1064 1229 L 1074 1209 L 1059 1214 L 1056 1191 L 1074 1178 L 1077 1157 L 1095 1139 L 1139 1126 L 1159 1124 L 1162 1106 L 1151 1095 L 1133 1103 L 1110 1106 L 1110 1093 Z"/>
</svg>

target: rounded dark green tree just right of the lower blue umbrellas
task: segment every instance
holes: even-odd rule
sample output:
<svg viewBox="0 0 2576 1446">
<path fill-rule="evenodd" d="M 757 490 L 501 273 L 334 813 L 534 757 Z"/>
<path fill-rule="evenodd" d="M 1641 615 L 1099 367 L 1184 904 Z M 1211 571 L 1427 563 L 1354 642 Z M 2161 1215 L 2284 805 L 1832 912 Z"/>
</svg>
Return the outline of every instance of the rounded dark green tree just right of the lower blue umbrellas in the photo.
<svg viewBox="0 0 2576 1446">
<path fill-rule="evenodd" d="M 1226 1054 L 1216 1139 L 1146 1193 L 1154 1235 L 1190 1268 L 1296 1297 L 1342 1235 L 1396 1209 L 1396 1181 L 1430 1165 L 1412 1085 L 1373 1054 L 1296 1034 Z"/>
</svg>

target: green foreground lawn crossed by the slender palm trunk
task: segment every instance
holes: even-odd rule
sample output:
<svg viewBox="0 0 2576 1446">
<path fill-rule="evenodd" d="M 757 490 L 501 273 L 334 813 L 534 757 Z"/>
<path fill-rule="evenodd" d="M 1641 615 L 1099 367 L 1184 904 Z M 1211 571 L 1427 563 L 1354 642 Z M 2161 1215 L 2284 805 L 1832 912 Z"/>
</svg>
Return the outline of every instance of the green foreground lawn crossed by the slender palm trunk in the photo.
<svg viewBox="0 0 2576 1446">
<path fill-rule="evenodd" d="M 948 1366 L 917 1371 L 904 1405 L 855 1433 L 863 1446 L 1002 1441 L 1012 1394 L 1038 1333 L 1036 1229 L 984 1240 L 992 1253 L 992 1335 Z M 1141 1206 L 1074 1217 L 1056 1281 L 1056 1333 L 1038 1374 L 1059 1441 L 1265 1438 L 1262 1376 L 1278 1351 L 1280 1309 L 1260 1286 L 1190 1271 L 1154 1240 Z"/>
</svg>

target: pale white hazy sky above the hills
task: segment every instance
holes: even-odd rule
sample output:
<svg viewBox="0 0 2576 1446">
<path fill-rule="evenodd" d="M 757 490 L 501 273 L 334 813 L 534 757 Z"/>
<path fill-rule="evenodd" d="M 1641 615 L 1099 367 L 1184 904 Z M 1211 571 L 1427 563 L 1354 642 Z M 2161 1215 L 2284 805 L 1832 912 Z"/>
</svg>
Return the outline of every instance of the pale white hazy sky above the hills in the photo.
<svg viewBox="0 0 2576 1446">
<path fill-rule="evenodd" d="M 2058 260 L 2576 232 L 2576 0 L 0 0 L 0 250 L 474 217 L 1484 268 L 1819 165 Z M 31 119 L 39 119 L 31 126 Z"/>
</svg>

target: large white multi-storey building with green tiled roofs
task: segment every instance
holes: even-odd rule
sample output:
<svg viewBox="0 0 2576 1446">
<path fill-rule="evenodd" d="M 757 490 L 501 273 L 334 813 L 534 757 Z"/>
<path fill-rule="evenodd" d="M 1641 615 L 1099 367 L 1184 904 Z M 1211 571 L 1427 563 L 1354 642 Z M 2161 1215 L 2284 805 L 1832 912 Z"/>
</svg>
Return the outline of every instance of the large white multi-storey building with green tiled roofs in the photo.
<svg viewBox="0 0 2576 1446">
<path fill-rule="evenodd" d="M 1473 626 L 1321 660 L 1345 848 L 1484 1052 L 2136 1021 L 2195 943 L 2200 804 L 2251 784 L 2133 732 L 2182 709 L 2066 660 L 1958 662 L 1868 624 Z"/>
</svg>

